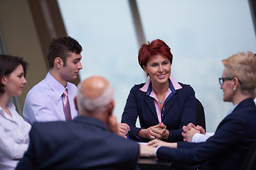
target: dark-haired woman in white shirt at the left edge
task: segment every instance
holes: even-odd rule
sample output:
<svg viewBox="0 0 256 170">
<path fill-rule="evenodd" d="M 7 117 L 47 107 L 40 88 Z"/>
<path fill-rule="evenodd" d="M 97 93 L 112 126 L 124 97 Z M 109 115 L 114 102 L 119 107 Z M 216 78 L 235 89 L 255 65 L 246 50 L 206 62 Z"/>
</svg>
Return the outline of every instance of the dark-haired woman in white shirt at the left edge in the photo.
<svg viewBox="0 0 256 170">
<path fill-rule="evenodd" d="M 0 169 L 14 169 L 28 148 L 31 125 L 9 101 L 11 96 L 21 96 L 26 68 L 22 58 L 0 55 Z"/>
</svg>

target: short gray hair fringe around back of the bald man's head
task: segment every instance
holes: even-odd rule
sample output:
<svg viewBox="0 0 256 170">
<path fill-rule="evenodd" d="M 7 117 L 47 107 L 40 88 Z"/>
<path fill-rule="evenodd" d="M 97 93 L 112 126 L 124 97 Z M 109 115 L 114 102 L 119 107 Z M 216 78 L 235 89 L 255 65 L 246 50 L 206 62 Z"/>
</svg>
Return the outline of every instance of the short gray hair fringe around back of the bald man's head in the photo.
<svg viewBox="0 0 256 170">
<path fill-rule="evenodd" d="M 78 84 L 77 103 L 79 111 L 88 111 L 91 113 L 105 111 L 107 106 L 114 99 L 114 90 L 109 82 L 102 94 L 97 96 L 97 98 L 87 98 L 84 94 L 81 84 Z"/>
</svg>

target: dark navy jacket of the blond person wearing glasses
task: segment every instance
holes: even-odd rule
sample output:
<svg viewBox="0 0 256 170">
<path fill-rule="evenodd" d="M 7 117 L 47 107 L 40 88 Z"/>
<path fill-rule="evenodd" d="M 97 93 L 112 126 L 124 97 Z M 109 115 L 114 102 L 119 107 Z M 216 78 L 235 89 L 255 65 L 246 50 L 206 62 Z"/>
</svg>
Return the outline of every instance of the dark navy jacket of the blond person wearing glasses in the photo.
<svg viewBox="0 0 256 170">
<path fill-rule="evenodd" d="M 157 157 L 201 163 L 200 169 L 240 169 L 256 137 L 256 106 L 252 98 L 240 102 L 206 142 L 178 142 L 178 149 L 159 147 Z"/>
</svg>

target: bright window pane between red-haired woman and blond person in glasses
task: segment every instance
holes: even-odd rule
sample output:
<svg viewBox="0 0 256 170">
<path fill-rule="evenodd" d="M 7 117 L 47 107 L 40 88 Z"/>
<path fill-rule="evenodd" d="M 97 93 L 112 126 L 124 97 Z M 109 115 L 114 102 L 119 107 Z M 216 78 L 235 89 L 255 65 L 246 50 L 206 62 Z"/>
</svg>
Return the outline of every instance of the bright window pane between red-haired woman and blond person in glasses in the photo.
<svg viewBox="0 0 256 170">
<path fill-rule="evenodd" d="M 171 75 L 191 84 L 203 103 L 208 132 L 215 131 L 231 103 L 223 102 L 221 60 L 256 52 L 248 1 L 137 1 L 147 40 L 164 40 L 174 55 Z"/>
</svg>

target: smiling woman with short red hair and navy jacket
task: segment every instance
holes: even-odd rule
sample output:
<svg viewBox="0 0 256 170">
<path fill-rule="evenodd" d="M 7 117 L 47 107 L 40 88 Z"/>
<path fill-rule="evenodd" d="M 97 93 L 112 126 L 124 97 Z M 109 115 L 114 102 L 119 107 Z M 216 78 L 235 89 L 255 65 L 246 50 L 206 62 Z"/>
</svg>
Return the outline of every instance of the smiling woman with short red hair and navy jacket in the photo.
<svg viewBox="0 0 256 170">
<path fill-rule="evenodd" d="M 171 77 L 173 55 L 162 40 L 139 49 L 139 64 L 149 79 L 132 87 L 119 131 L 134 140 L 181 141 L 183 125 L 196 122 L 196 97 L 192 87 Z M 141 128 L 135 123 L 139 116 Z"/>
</svg>

